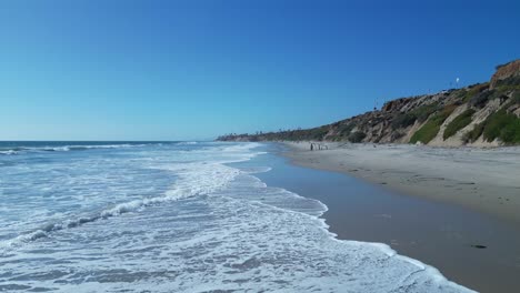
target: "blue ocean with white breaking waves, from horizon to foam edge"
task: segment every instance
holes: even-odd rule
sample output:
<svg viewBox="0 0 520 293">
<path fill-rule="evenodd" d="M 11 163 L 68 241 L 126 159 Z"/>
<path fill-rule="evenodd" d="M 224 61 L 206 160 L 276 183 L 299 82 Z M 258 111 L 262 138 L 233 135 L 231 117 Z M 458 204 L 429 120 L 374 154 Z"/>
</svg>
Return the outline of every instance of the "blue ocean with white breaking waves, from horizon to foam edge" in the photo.
<svg viewBox="0 0 520 293">
<path fill-rule="evenodd" d="M 469 292 L 337 240 L 323 203 L 256 176 L 267 151 L 0 142 L 0 292 Z"/>
</svg>

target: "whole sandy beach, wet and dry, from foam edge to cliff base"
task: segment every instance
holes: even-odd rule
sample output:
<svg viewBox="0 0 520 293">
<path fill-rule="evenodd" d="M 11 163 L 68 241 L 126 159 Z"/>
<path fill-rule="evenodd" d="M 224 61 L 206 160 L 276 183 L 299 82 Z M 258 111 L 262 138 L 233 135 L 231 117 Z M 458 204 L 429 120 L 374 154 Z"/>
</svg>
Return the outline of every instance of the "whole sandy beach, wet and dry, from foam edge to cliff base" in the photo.
<svg viewBox="0 0 520 293">
<path fill-rule="evenodd" d="M 311 173 L 283 186 L 326 203 L 339 239 L 389 244 L 479 292 L 520 286 L 518 148 L 284 145 L 280 153 Z"/>
</svg>

